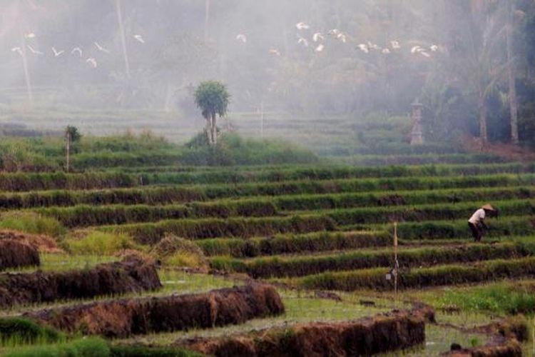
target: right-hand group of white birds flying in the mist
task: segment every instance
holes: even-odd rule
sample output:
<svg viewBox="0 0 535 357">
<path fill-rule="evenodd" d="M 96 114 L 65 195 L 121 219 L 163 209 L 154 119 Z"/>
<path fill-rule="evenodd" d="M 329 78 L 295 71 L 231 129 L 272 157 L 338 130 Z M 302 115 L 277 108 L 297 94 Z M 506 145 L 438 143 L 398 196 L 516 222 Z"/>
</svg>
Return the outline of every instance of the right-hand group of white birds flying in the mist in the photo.
<svg viewBox="0 0 535 357">
<path fill-rule="evenodd" d="M 315 52 L 322 52 L 325 50 L 325 44 L 323 44 L 323 41 L 325 40 L 324 34 L 321 32 L 315 32 L 312 34 L 312 38 L 307 39 L 302 34 L 305 33 L 303 30 L 310 30 L 310 25 L 305 24 L 305 22 L 298 22 L 295 24 L 295 28 L 299 30 L 300 32 L 297 33 L 297 43 L 308 47 L 311 44 L 314 46 Z M 341 41 L 343 44 L 347 42 L 347 34 L 345 32 L 340 31 L 339 29 L 332 29 L 327 32 L 328 36 L 331 36 L 333 39 L 337 39 L 338 41 Z M 236 36 L 237 41 L 243 42 L 243 44 L 247 43 L 247 36 L 245 34 L 238 34 Z M 312 43 L 310 42 L 312 40 Z M 360 51 L 364 52 L 365 54 L 369 54 L 370 51 L 380 51 L 382 54 L 390 54 L 392 51 L 401 49 L 401 45 L 399 44 L 399 41 L 392 40 L 390 41 L 390 46 L 387 47 L 381 47 L 377 44 L 373 44 L 370 41 L 367 41 L 367 43 L 364 44 L 358 44 L 357 49 L 360 49 Z M 411 53 L 412 54 L 419 54 L 424 57 L 431 57 L 430 52 L 437 52 L 439 51 L 439 46 L 436 44 L 432 44 L 429 47 L 422 47 L 422 46 L 412 46 L 411 47 Z M 278 49 L 269 49 L 268 53 L 280 56 L 280 51 Z"/>
</svg>

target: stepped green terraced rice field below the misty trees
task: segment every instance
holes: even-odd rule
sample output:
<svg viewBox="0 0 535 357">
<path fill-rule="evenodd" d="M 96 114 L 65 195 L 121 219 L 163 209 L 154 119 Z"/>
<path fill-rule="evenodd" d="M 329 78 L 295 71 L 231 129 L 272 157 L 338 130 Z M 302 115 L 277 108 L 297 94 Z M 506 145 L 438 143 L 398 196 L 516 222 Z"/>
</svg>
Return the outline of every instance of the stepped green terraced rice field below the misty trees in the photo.
<svg viewBox="0 0 535 357">
<path fill-rule="evenodd" d="M 42 271 L 61 271 L 63 281 L 69 281 L 69 274 L 94 278 L 101 282 L 100 290 L 80 296 L 58 292 L 51 298 L 41 298 L 46 296 L 43 291 L 32 292 L 26 300 L 4 301 L 1 314 L 22 313 L 67 333 L 96 333 L 101 330 L 95 317 L 83 315 L 89 308 L 81 304 L 108 301 L 106 306 L 122 306 L 125 311 L 143 315 L 147 308 L 143 297 L 147 296 L 165 299 L 171 293 L 206 293 L 250 279 L 277 287 L 283 311 L 253 309 L 244 314 L 247 318 L 233 319 L 217 317 L 226 316 L 221 315 L 224 308 L 219 308 L 219 314 L 213 316 L 220 320 L 210 315 L 216 318 L 211 325 L 208 320 L 158 328 L 156 323 L 148 323 L 139 331 L 130 326 L 120 333 L 113 329 L 104 333 L 116 336 L 113 343 L 117 346 L 189 348 L 191 344 L 184 341 L 193 336 L 218 338 L 295 323 L 355 320 L 394 307 L 410 308 L 407 301 L 418 294 L 417 289 L 435 291 L 517 279 L 529 284 L 535 278 L 534 183 L 535 164 L 514 163 L 370 168 L 141 166 L 121 173 L 0 174 L 3 214 L 52 218 L 59 227 L 54 238 L 66 251 L 76 246 L 69 246 L 73 241 L 86 239 L 88 231 L 129 236 L 135 246 L 123 248 L 144 253 L 173 233 L 198 246 L 210 268 L 210 273 L 191 273 L 156 262 L 153 269 L 161 287 L 159 283 L 141 283 L 143 288 L 136 284 L 114 288 L 113 276 L 119 278 L 113 268 L 107 278 L 93 277 L 90 272 L 97 263 L 121 260 L 121 250 L 98 256 L 88 256 L 89 251 L 41 251 Z M 474 243 L 467 218 L 488 202 L 499 209 L 499 218 L 491 219 L 484 240 Z M 394 222 L 399 236 L 399 294 L 407 298 L 394 295 L 394 281 L 386 278 L 394 265 Z M 36 286 L 41 281 L 39 274 L 43 274 L 36 273 L 36 277 L 35 267 L 6 271 L 14 272 L 10 279 L 19 276 L 23 285 L 24 274 L 37 279 L 29 280 Z M 0 286 L 9 281 L 7 272 L 0 273 Z M 148 273 L 128 274 L 143 281 Z M 62 284 L 58 283 L 60 290 Z M 228 293 L 213 294 L 207 301 L 223 301 Z M 441 306 L 437 303 L 434 307 L 438 311 Z M 41 311 L 44 308 L 52 310 Z M 86 320 L 82 318 L 86 322 L 58 318 L 71 316 L 66 311 L 76 318 L 86 316 Z M 165 315 L 165 309 L 158 311 Z M 100 318 L 109 317 L 102 314 Z M 437 313 L 439 322 L 441 318 L 449 317 Z M 477 321 L 489 322 L 490 317 L 477 316 Z M 234 326 L 216 327 L 228 323 Z M 307 331 L 306 326 L 300 328 L 295 331 Z M 452 342 L 480 346 L 488 338 L 474 331 L 431 324 L 427 326 L 427 343 L 417 343 L 416 349 L 406 353 L 436 356 L 448 351 Z M 10 343 L 17 344 L 4 341 L 4 352 L 10 351 Z"/>
</svg>

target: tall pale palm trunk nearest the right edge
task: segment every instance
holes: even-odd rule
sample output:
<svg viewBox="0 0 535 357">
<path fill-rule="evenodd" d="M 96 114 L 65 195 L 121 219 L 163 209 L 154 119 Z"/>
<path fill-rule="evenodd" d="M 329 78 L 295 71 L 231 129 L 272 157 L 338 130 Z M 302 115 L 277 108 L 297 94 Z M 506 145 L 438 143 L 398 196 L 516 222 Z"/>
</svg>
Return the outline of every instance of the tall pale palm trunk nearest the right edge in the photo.
<svg viewBox="0 0 535 357">
<path fill-rule="evenodd" d="M 512 32 L 514 14 L 514 1 L 508 0 L 507 4 L 507 29 L 506 29 L 506 46 L 507 46 L 507 72 L 509 76 L 509 111 L 511 113 L 511 144 L 519 144 L 519 128 L 518 128 L 518 103 L 516 101 L 516 66 L 513 54 Z"/>
</svg>

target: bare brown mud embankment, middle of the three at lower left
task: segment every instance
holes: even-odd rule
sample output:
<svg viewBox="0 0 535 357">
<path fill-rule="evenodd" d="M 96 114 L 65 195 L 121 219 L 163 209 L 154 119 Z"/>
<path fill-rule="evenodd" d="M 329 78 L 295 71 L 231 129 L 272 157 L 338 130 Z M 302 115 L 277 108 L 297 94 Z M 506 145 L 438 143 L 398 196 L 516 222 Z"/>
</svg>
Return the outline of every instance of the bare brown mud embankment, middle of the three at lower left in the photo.
<svg viewBox="0 0 535 357">
<path fill-rule="evenodd" d="M 284 311 L 273 286 L 253 283 L 208 293 L 98 301 L 25 316 L 63 331 L 126 337 L 239 324 Z"/>
</svg>

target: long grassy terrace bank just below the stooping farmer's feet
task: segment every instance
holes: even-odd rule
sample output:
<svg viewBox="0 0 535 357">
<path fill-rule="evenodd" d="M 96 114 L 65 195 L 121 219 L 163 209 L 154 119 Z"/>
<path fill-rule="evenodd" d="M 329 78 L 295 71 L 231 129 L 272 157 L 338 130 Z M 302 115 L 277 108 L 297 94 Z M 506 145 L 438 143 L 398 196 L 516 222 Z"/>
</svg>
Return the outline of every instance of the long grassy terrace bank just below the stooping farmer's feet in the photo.
<svg viewBox="0 0 535 357">
<path fill-rule="evenodd" d="M 408 268 L 518 258 L 534 253 L 534 244 L 469 244 L 456 247 L 400 249 L 398 260 L 403 268 Z M 275 256 L 248 260 L 216 257 L 211 259 L 210 266 L 224 271 L 247 273 L 253 278 L 307 276 L 324 271 L 393 266 L 393 252 L 392 249 L 385 249 L 381 251 L 343 252 L 327 256 Z"/>
</svg>

